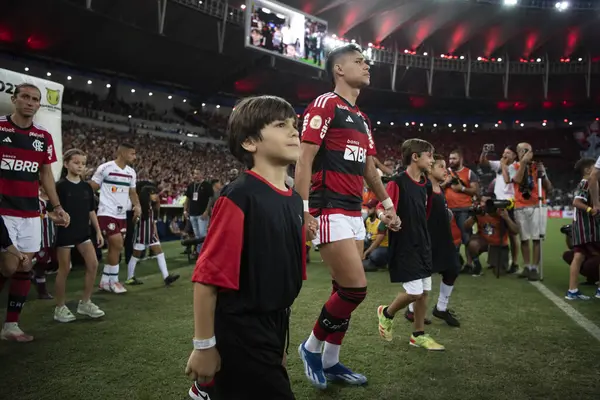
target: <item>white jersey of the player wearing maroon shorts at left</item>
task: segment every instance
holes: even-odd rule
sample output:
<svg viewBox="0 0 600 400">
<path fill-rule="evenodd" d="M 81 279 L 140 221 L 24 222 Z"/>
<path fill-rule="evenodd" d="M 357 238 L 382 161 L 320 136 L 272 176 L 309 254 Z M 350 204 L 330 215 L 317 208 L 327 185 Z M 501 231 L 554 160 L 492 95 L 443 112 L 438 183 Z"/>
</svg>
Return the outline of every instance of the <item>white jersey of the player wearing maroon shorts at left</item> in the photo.
<svg viewBox="0 0 600 400">
<path fill-rule="evenodd" d="M 125 219 L 129 189 L 135 189 L 136 175 L 133 168 L 121 169 L 114 161 L 98 167 L 92 181 L 100 185 L 98 216 Z"/>
</svg>

